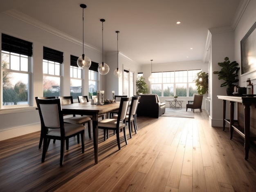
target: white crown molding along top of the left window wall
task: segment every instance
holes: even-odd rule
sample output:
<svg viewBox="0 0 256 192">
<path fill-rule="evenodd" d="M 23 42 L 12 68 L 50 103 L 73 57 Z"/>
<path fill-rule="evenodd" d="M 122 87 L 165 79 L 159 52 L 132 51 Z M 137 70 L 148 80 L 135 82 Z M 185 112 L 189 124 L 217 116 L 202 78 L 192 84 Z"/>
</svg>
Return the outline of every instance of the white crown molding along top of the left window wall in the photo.
<svg viewBox="0 0 256 192">
<path fill-rule="evenodd" d="M 78 44 L 79 46 L 83 46 L 83 42 L 81 40 L 78 40 L 78 39 L 76 39 L 76 38 L 74 38 L 74 37 L 72 37 L 72 36 L 70 36 L 66 33 L 63 33 L 62 31 L 59 31 L 58 29 L 55 29 L 55 28 L 53 28 L 53 27 L 51 27 L 51 26 L 49 26 L 49 25 L 47 25 L 43 22 L 40 22 L 40 21 L 38 21 L 38 20 L 36 20 L 36 19 L 34 19 L 34 18 L 32 18 L 32 17 L 30 17 L 30 16 L 28 16 L 28 15 L 26 15 L 26 14 L 20 12 L 20 11 L 17 11 L 16 9 L 10 9 L 10 10 L 4 11 L 3 13 L 5 13 L 6 15 L 9 15 L 13 18 L 16 18 L 18 20 L 21 20 L 21 21 L 23 21 L 27 24 L 35 26 L 38 29 L 42 29 L 42 30 L 44 30 L 48 33 L 52 33 L 53 35 L 56 35 L 56 36 L 58 36 L 60 38 L 63 38 L 67 41 L 70 41 L 74 44 Z M 84 47 L 91 50 L 91 51 L 94 51 L 96 53 L 102 54 L 102 51 L 100 51 L 99 49 L 97 49 L 97 48 L 95 48 L 95 47 L 93 47 L 89 44 L 84 43 Z"/>
</svg>

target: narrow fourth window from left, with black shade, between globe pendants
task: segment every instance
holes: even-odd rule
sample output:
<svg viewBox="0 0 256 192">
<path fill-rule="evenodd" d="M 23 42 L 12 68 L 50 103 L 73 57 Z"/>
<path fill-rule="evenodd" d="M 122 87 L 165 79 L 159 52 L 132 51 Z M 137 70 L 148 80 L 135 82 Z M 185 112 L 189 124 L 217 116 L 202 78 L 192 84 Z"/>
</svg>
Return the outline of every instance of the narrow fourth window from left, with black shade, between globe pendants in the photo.
<svg viewBox="0 0 256 192">
<path fill-rule="evenodd" d="M 89 68 L 89 97 L 97 95 L 99 80 L 98 80 L 98 63 L 92 62 Z"/>
</svg>

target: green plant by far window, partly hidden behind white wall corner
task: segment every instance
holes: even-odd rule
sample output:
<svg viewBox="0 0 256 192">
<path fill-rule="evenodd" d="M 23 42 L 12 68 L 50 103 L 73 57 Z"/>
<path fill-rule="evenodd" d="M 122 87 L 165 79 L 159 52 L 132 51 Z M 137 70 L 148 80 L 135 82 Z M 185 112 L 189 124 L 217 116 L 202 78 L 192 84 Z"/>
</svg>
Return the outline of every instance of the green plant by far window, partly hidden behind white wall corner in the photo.
<svg viewBox="0 0 256 192">
<path fill-rule="evenodd" d="M 194 82 L 199 95 L 208 93 L 208 73 L 202 71 L 198 72 Z"/>
</svg>

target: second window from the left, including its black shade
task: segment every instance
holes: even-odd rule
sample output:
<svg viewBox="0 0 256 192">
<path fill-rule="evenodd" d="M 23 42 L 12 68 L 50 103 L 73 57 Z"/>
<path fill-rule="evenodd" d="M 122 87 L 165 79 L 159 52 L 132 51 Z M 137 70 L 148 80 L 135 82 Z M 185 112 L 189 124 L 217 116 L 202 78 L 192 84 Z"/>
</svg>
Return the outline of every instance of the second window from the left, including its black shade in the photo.
<svg viewBox="0 0 256 192">
<path fill-rule="evenodd" d="M 43 97 L 61 96 L 63 52 L 43 48 Z"/>
</svg>

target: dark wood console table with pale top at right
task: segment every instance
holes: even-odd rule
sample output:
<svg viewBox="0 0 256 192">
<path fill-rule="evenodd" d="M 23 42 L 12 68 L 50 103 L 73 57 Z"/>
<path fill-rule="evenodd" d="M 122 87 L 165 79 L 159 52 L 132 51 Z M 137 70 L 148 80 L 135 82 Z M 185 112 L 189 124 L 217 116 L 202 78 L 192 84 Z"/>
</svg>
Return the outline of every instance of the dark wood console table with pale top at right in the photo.
<svg viewBox="0 0 256 192">
<path fill-rule="evenodd" d="M 230 139 L 233 137 L 234 130 L 245 139 L 245 159 L 248 159 L 250 140 L 256 141 L 256 137 L 250 136 L 250 106 L 256 105 L 256 97 L 240 97 L 240 96 L 222 96 L 217 95 L 218 99 L 223 101 L 223 130 L 225 130 L 226 122 L 229 123 Z M 226 101 L 230 104 L 230 120 L 226 119 Z M 234 125 L 234 103 L 242 103 L 244 106 L 244 132 L 241 132 Z"/>
</svg>

